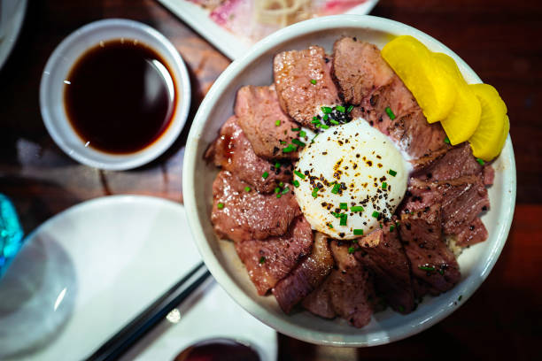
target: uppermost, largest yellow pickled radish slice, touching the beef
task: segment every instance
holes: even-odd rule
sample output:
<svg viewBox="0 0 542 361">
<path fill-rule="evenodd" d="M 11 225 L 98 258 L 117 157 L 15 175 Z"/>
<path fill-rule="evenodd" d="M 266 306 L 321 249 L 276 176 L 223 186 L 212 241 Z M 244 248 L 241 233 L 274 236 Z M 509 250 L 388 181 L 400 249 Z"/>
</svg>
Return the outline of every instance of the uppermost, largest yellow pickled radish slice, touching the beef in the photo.
<svg viewBox="0 0 542 361">
<path fill-rule="evenodd" d="M 382 57 L 411 91 L 427 121 L 445 119 L 455 102 L 456 89 L 434 65 L 430 50 L 422 42 L 399 36 L 383 47 Z"/>
</svg>

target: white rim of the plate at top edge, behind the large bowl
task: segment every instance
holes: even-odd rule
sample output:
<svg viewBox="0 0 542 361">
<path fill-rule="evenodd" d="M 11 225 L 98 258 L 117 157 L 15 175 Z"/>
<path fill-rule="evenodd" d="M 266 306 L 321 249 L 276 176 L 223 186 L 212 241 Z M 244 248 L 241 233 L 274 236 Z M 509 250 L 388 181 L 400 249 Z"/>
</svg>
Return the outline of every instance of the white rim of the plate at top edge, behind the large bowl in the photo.
<svg viewBox="0 0 542 361">
<path fill-rule="evenodd" d="M 201 6 L 190 3 L 188 0 L 158 0 L 159 3 L 166 6 L 171 12 L 181 18 L 190 27 L 193 27 L 199 35 L 202 35 L 216 46 L 228 58 L 235 60 L 246 54 L 247 50 L 253 45 L 245 39 L 240 39 L 228 32 L 224 27 L 221 27 L 209 18 L 209 12 Z M 360 4 L 347 14 L 368 14 L 373 10 L 378 0 L 368 0 L 364 4 Z"/>
</svg>

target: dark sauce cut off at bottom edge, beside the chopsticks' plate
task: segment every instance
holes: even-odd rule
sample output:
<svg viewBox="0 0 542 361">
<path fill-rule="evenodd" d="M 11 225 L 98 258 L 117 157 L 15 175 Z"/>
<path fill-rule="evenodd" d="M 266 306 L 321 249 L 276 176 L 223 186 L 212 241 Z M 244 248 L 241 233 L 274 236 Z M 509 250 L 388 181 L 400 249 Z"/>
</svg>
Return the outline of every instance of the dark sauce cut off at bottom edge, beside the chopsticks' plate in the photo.
<svg viewBox="0 0 542 361">
<path fill-rule="evenodd" d="M 184 349 L 174 361 L 260 361 L 258 353 L 242 343 L 211 339 Z"/>
</svg>

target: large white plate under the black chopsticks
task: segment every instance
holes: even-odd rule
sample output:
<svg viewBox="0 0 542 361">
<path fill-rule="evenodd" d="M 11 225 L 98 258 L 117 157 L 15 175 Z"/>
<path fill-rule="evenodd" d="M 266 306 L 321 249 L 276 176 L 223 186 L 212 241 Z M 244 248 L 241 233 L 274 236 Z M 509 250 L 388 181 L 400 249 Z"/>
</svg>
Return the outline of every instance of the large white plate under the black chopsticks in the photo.
<svg viewBox="0 0 542 361">
<path fill-rule="evenodd" d="M 181 204 L 108 196 L 76 205 L 28 236 L 0 282 L 0 359 L 89 356 L 198 262 Z M 197 298 L 130 358 L 173 359 L 192 342 L 228 336 L 275 359 L 275 332 L 214 282 Z"/>
</svg>

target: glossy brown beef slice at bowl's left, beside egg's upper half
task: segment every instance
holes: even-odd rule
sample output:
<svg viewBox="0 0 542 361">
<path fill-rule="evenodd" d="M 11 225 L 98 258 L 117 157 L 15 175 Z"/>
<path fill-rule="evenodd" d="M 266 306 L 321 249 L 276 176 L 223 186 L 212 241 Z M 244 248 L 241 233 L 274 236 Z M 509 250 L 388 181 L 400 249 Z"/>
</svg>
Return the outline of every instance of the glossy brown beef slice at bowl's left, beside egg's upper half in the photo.
<svg viewBox="0 0 542 361">
<path fill-rule="evenodd" d="M 237 124 L 236 116 L 230 117 L 221 128 L 216 141 L 205 152 L 205 158 L 219 165 L 223 170 L 235 173 L 259 192 L 273 192 L 279 182 L 288 182 L 292 178 L 292 165 L 280 169 L 266 159 L 258 157 L 252 150 L 251 142 Z M 267 172 L 267 178 L 263 174 Z"/>
</svg>

